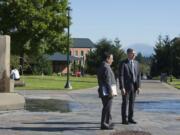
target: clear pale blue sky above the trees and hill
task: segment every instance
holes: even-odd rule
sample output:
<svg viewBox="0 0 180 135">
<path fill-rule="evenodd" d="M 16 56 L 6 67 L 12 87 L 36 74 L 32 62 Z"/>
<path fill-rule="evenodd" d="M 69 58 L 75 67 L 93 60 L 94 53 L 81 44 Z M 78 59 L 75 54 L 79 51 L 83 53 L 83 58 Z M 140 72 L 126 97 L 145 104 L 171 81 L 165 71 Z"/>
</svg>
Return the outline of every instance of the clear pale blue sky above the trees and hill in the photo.
<svg viewBox="0 0 180 135">
<path fill-rule="evenodd" d="M 158 36 L 180 36 L 180 0 L 69 0 L 73 38 L 119 38 L 125 46 L 154 46 Z"/>
</svg>

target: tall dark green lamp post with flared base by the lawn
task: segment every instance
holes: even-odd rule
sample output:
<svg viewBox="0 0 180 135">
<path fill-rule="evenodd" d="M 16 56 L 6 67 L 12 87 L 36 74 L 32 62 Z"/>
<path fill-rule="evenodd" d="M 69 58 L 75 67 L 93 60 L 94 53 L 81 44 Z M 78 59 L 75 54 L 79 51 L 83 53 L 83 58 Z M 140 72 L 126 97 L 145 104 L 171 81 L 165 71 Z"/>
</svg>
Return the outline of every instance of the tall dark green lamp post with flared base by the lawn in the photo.
<svg viewBox="0 0 180 135">
<path fill-rule="evenodd" d="M 66 89 L 72 89 L 72 86 L 71 86 L 70 81 L 69 81 L 69 63 L 70 63 L 70 60 L 69 60 L 69 44 L 70 44 L 70 41 L 69 41 L 69 37 L 70 37 L 69 25 L 70 25 L 70 11 L 71 11 L 71 8 L 68 6 L 67 7 L 67 12 L 68 12 L 67 81 L 66 81 L 66 85 L 64 86 L 64 88 L 66 88 Z"/>
</svg>

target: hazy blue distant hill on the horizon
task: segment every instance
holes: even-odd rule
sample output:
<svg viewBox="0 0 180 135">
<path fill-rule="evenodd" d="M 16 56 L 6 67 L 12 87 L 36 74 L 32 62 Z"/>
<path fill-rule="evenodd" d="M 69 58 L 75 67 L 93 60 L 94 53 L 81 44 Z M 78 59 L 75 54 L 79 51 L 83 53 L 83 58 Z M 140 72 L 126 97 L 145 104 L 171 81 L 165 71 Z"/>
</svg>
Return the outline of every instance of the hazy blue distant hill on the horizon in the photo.
<svg viewBox="0 0 180 135">
<path fill-rule="evenodd" d="M 127 48 L 133 48 L 137 53 L 140 52 L 143 56 L 151 56 L 154 53 L 153 46 L 142 43 L 123 47 L 125 50 L 127 50 Z"/>
</svg>

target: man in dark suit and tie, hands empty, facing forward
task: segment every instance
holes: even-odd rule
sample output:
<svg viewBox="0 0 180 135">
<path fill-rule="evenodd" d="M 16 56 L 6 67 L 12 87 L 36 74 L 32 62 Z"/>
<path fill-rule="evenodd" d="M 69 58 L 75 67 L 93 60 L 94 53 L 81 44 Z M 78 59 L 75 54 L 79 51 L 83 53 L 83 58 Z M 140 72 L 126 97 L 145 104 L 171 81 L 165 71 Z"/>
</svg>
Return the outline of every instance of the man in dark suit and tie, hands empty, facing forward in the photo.
<svg viewBox="0 0 180 135">
<path fill-rule="evenodd" d="M 122 124 L 136 124 L 134 121 L 134 101 L 136 93 L 139 94 L 141 87 L 141 73 L 139 63 L 135 60 L 135 51 L 127 49 L 128 58 L 123 60 L 119 66 L 119 87 L 122 93 Z M 127 106 L 128 115 L 127 115 Z"/>
</svg>

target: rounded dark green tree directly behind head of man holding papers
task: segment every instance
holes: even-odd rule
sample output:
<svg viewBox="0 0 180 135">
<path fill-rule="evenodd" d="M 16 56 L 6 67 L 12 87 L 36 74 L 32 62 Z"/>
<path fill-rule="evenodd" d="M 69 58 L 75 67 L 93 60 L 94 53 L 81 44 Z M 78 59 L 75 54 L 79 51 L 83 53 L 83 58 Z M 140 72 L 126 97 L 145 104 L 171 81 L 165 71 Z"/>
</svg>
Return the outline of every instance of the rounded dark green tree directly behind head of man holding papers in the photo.
<svg viewBox="0 0 180 135">
<path fill-rule="evenodd" d="M 115 40 L 117 41 L 117 40 Z M 104 52 L 110 52 L 114 56 L 114 62 L 112 64 L 113 71 L 117 76 L 118 66 L 120 60 L 125 57 L 124 51 L 121 49 L 120 42 L 113 43 L 107 39 L 101 39 L 96 44 L 96 49 L 89 52 L 87 55 L 87 72 L 90 74 L 96 74 L 97 67 L 100 66 L 101 62 L 103 61 L 103 54 Z"/>
</svg>

